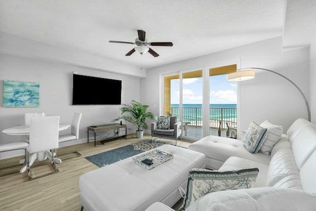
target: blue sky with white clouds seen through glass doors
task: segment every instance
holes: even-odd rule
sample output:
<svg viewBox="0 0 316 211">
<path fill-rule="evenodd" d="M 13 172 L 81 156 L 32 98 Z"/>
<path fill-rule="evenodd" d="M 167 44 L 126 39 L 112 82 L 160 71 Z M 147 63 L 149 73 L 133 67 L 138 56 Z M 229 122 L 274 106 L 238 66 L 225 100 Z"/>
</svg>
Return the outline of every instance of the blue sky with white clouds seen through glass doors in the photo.
<svg viewBox="0 0 316 211">
<path fill-rule="evenodd" d="M 171 104 L 179 104 L 179 80 L 171 81 Z M 226 75 L 210 77 L 210 104 L 237 104 L 237 83 Z M 183 104 L 202 104 L 202 78 L 183 80 Z"/>
</svg>

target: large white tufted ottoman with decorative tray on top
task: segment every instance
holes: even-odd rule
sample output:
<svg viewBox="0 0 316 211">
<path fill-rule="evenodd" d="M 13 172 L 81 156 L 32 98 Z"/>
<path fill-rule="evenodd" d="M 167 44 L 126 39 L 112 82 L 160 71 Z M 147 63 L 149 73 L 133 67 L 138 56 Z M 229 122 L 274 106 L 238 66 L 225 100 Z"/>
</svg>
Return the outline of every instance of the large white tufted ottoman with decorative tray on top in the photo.
<svg viewBox="0 0 316 211">
<path fill-rule="evenodd" d="M 205 168 L 205 156 L 167 144 L 156 149 L 173 154 L 173 159 L 148 170 L 130 157 L 80 176 L 84 210 L 144 211 L 155 202 L 172 207 L 181 198 L 178 188 L 185 189 L 189 170 Z"/>
</svg>

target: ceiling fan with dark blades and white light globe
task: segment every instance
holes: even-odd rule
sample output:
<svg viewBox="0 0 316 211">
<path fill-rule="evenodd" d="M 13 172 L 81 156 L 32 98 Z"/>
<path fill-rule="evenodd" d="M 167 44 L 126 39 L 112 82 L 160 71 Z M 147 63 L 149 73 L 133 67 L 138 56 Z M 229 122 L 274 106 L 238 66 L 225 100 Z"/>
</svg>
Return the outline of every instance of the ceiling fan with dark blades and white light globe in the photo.
<svg viewBox="0 0 316 211">
<path fill-rule="evenodd" d="M 137 30 L 138 38 L 135 39 L 135 42 L 122 42 L 122 41 L 109 41 L 109 42 L 116 42 L 116 43 L 126 43 L 126 44 L 136 44 L 137 46 L 131 49 L 125 56 L 130 56 L 135 51 L 139 52 L 140 54 L 144 54 L 147 51 L 152 54 L 153 56 L 157 57 L 159 54 L 154 51 L 150 46 L 172 46 L 172 42 L 148 42 L 146 39 L 146 32 L 143 30 Z"/>
</svg>

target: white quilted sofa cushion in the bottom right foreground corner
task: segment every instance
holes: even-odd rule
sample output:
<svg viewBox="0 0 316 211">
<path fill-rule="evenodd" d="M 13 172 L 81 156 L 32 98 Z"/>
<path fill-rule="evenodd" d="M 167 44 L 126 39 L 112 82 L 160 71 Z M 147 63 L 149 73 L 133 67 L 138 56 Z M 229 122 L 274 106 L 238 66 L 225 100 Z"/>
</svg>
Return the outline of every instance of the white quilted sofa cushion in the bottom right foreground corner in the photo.
<svg viewBox="0 0 316 211">
<path fill-rule="evenodd" d="M 209 193 L 186 211 L 315 211 L 316 193 L 288 188 L 249 188 Z"/>
</svg>

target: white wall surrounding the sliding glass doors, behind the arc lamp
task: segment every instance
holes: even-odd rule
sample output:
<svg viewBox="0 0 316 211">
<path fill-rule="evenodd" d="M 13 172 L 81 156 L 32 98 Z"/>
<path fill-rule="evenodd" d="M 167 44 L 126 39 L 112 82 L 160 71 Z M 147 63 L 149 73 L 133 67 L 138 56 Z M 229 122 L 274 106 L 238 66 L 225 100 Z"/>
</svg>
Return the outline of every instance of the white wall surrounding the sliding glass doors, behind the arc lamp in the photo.
<svg viewBox="0 0 316 211">
<path fill-rule="evenodd" d="M 278 72 L 297 84 L 310 100 L 309 48 L 281 51 L 281 37 L 199 56 L 147 70 L 140 81 L 141 101 L 159 113 L 159 74 L 201 66 L 210 66 L 241 58 L 241 68 L 259 67 Z M 298 118 L 308 119 L 305 102 L 299 91 L 285 79 L 267 71 L 256 71 L 256 78 L 239 82 L 239 129 L 254 121 L 269 120 L 284 131 Z M 156 108 L 154 108 L 156 105 Z"/>
</svg>

